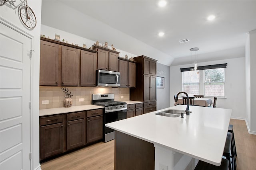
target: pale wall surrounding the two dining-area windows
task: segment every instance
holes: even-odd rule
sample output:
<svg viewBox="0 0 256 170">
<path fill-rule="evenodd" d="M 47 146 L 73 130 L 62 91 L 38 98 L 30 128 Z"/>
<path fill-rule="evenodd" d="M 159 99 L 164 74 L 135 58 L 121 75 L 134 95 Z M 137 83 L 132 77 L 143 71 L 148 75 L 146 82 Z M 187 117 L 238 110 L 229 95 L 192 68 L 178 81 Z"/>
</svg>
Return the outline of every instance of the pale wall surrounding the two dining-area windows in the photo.
<svg viewBox="0 0 256 170">
<path fill-rule="evenodd" d="M 225 70 L 225 98 L 218 98 L 216 107 L 232 109 L 233 118 L 245 119 L 245 58 L 198 63 L 198 66 L 223 63 L 228 63 Z M 171 106 L 174 104 L 172 96 L 182 91 L 182 72 L 180 72 L 180 68 L 186 67 L 191 67 L 191 64 L 170 67 Z"/>
</svg>

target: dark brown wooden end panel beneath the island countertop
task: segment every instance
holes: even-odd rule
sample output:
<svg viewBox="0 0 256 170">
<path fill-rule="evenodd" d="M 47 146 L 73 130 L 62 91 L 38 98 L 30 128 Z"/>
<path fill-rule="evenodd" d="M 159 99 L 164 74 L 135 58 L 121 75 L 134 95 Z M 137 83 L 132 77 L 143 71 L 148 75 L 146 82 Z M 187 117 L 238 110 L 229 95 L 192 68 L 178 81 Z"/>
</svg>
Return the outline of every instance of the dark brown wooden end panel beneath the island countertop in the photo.
<svg viewBox="0 0 256 170">
<path fill-rule="evenodd" d="M 115 132 L 115 170 L 154 170 L 154 144 Z"/>
</svg>

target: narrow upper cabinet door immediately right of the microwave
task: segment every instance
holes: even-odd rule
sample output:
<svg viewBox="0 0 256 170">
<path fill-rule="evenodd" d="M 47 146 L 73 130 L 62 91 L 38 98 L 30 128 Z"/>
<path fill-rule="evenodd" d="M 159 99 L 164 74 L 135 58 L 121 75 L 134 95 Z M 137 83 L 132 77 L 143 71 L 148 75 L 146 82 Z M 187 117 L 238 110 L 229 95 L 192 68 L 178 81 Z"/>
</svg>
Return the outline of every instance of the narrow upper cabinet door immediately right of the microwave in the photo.
<svg viewBox="0 0 256 170">
<path fill-rule="evenodd" d="M 119 60 L 120 87 L 128 86 L 128 61 Z"/>
</svg>

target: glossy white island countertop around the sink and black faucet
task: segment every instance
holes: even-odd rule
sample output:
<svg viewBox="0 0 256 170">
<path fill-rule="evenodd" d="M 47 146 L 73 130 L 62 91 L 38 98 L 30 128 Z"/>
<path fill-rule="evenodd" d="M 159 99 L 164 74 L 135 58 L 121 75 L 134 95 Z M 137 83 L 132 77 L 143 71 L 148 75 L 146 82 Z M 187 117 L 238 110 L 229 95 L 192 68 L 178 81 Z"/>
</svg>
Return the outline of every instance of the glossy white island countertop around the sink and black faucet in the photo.
<svg viewBox="0 0 256 170">
<path fill-rule="evenodd" d="M 192 113 L 184 114 L 184 118 L 154 114 L 168 109 L 185 110 L 186 106 L 177 105 L 115 121 L 106 127 L 220 165 L 231 109 L 190 106 Z"/>
</svg>

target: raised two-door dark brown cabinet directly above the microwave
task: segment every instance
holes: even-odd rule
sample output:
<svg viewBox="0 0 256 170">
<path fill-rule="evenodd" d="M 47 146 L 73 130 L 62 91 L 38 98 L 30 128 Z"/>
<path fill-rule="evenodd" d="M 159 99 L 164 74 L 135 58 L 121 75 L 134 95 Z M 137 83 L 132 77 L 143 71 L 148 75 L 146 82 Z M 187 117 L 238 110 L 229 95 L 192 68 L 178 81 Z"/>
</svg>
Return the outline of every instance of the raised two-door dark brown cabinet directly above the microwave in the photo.
<svg viewBox="0 0 256 170">
<path fill-rule="evenodd" d="M 92 45 L 92 49 L 98 51 L 98 69 L 118 72 L 119 52 L 98 45 Z"/>
</svg>

